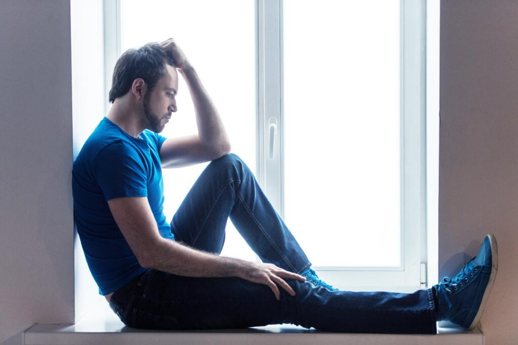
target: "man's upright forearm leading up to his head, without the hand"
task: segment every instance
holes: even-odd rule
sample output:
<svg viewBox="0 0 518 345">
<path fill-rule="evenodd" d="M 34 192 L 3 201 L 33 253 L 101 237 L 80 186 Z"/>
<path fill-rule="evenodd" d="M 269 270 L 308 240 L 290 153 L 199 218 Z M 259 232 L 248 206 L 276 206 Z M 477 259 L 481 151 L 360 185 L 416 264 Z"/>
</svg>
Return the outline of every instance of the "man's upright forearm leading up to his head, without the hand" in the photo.
<svg viewBox="0 0 518 345">
<path fill-rule="evenodd" d="M 196 113 L 196 124 L 200 140 L 208 148 L 223 152 L 230 151 L 230 142 L 223 122 L 203 87 L 196 70 L 191 65 L 178 70 L 189 87 Z"/>
</svg>

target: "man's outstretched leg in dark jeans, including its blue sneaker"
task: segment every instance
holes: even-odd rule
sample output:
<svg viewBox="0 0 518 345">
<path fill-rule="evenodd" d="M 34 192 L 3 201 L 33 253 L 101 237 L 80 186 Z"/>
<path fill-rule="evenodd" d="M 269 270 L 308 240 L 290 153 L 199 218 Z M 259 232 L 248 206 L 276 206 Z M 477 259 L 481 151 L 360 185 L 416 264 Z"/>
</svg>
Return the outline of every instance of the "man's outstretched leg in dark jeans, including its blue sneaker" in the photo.
<svg viewBox="0 0 518 345">
<path fill-rule="evenodd" d="M 129 310 L 122 312 L 122 319 L 133 327 L 157 329 L 293 323 L 330 332 L 434 334 L 437 320 L 470 328 L 482 315 L 497 255 L 494 236 L 488 235 L 479 254 L 459 274 L 428 290 L 329 291 L 289 280 L 296 295 L 282 291 L 280 300 L 268 286 L 239 278 L 191 278 L 151 270 L 128 294 Z"/>
</svg>

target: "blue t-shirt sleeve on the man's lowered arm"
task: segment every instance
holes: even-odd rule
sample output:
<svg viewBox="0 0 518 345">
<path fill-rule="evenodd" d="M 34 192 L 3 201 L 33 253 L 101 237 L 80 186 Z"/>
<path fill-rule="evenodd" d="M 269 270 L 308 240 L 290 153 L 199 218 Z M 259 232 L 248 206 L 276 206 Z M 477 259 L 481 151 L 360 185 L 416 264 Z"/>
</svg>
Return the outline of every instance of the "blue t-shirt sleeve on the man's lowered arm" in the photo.
<svg viewBox="0 0 518 345">
<path fill-rule="evenodd" d="M 111 143 L 97 154 L 93 173 L 106 201 L 148 196 L 146 166 L 138 152 L 121 141 Z"/>
</svg>

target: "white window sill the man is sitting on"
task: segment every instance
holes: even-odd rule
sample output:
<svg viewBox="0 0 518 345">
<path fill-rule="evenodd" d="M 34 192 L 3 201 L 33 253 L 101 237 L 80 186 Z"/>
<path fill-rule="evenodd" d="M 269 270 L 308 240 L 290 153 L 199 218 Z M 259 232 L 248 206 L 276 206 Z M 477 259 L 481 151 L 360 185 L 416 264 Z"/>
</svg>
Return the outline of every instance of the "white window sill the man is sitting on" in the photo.
<svg viewBox="0 0 518 345">
<path fill-rule="evenodd" d="M 294 325 L 269 325 L 247 329 L 222 330 L 144 330 L 125 326 L 109 309 L 90 313 L 75 325 L 36 324 L 25 332 L 26 345 L 61 344 L 383 344 L 383 345 L 456 345 L 483 344 L 478 328 L 468 332 L 459 328 L 439 327 L 437 335 L 351 334 L 320 332 Z"/>
</svg>

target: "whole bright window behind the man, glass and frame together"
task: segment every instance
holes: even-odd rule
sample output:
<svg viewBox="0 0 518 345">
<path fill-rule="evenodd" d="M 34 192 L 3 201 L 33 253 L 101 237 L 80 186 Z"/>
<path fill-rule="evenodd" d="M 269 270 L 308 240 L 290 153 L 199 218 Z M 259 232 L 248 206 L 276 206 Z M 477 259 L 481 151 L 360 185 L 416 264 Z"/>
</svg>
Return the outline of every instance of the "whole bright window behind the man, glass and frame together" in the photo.
<svg viewBox="0 0 518 345">
<path fill-rule="evenodd" d="M 256 172 L 320 277 L 341 289 L 415 290 L 427 255 L 424 6 L 106 2 L 106 92 L 121 52 L 174 37 L 233 152 Z M 179 82 L 165 136 L 196 131 Z M 169 220 L 204 167 L 164 170 Z M 230 221 L 222 254 L 257 260 Z"/>
</svg>

